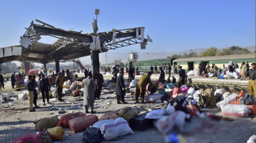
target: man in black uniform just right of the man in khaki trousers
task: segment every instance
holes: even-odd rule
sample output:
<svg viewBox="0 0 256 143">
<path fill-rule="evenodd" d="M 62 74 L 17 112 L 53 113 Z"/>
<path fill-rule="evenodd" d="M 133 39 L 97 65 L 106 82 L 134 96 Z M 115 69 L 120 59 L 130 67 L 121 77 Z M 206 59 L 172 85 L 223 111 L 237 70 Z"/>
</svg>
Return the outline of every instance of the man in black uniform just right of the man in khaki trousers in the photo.
<svg viewBox="0 0 256 143">
<path fill-rule="evenodd" d="M 44 77 L 44 74 L 42 74 L 41 77 L 42 77 L 42 80 L 40 80 L 39 82 L 39 91 L 42 94 L 42 102 L 44 102 L 43 106 L 45 106 L 44 95 L 47 95 L 47 104 L 49 104 L 49 91 L 51 89 L 51 86 L 50 86 L 49 80 Z"/>
</svg>

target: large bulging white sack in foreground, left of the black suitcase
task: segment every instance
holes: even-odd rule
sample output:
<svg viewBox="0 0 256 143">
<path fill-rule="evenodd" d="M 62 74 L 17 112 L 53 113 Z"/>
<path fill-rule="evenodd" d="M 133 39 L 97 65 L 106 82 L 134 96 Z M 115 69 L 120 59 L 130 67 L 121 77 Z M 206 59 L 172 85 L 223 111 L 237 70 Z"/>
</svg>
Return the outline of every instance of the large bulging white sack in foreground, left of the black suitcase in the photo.
<svg viewBox="0 0 256 143">
<path fill-rule="evenodd" d="M 125 136 L 129 133 L 134 132 L 129 127 L 128 122 L 122 117 L 101 125 L 101 134 L 103 134 L 105 140 L 113 140 L 118 136 Z"/>
</svg>

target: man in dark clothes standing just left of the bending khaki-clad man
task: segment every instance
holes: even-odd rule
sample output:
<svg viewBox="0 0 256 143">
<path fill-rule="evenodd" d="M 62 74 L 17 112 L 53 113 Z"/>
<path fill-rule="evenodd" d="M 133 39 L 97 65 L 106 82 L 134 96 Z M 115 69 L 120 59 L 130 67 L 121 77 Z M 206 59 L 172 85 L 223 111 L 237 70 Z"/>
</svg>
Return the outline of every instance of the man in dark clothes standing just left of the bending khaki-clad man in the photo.
<svg viewBox="0 0 256 143">
<path fill-rule="evenodd" d="M 122 100 L 123 104 L 128 104 L 125 101 L 125 82 L 123 79 L 124 72 L 120 71 L 119 76 L 116 79 L 116 100 L 117 104 L 121 104 L 120 100 Z"/>
</svg>

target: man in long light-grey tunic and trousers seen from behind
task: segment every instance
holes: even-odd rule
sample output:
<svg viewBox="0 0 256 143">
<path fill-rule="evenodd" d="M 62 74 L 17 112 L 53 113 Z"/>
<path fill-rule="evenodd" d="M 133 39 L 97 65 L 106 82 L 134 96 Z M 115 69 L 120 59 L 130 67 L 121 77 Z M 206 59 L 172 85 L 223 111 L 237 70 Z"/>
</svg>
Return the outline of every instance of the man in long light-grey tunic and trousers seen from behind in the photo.
<svg viewBox="0 0 256 143">
<path fill-rule="evenodd" d="M 88 78 L 84 79 L 81 84 L 84 87 L 84 108 L 85 113 L 94 114 L 96 112 L 93 111 L 93 104 L 94 104 L 94 82 L 92 80 L 92 74 L 88 74 Z M 90 106 L 91 112 L 88 111 L 88 107 Z"/>
</svg>

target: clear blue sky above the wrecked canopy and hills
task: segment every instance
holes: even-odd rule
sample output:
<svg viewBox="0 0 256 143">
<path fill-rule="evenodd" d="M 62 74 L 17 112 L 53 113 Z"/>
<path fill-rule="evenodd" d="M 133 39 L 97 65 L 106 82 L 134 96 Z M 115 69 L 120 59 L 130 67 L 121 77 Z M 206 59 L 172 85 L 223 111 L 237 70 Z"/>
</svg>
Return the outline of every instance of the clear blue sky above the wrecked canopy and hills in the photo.
<svg viewBox="0 0 256 143">
<path fill-rule="evenodd" d="M 143 52 L 255 45 L 255 0 L 176 1 L 0 1 L 0 47 L 18 45 L 32 20 L 90 33 L 94 9 L 99 32 L 145 27 L 153 43 Z M 39 42 L 51 44 L 43 36 Z M 142 52 L 140 45 L 110 52 Z M 90 62 L 89 62 L 90 63 Z"/>
</svg>

